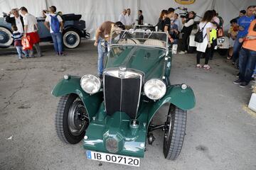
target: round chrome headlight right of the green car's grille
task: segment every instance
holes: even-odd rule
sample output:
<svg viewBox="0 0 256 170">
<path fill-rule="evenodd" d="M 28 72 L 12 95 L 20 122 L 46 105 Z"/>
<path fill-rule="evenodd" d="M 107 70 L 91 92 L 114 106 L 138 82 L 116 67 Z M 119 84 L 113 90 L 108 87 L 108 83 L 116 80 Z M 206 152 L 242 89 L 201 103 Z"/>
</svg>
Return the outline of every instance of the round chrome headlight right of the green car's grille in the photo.
<svg viewBox="0 0 256 170">
<path fill-rule="evenodd" d="M 166 85 L 160 79 L 150 79 L 144 85 L 144 93 L 152 100 L 158 100 L 166 94 Z"/>
</svg>

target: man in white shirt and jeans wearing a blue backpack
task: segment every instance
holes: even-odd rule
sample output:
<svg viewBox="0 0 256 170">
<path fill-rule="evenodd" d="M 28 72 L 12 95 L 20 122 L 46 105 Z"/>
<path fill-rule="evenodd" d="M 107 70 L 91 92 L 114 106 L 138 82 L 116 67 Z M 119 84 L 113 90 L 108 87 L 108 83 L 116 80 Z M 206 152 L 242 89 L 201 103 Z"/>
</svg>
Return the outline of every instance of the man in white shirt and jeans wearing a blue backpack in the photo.
<svg viewBox="0 0 256 170">
<path fill-rule="evenodd" d="M 44 25 L 48 30 L 50 30 L 56 55 L 63 55 L 63 19 L 55 14 L 56 10 L 57 8 L 55 6 L 50 6 L 50 14 L 46 15 Z"/>
</svg>

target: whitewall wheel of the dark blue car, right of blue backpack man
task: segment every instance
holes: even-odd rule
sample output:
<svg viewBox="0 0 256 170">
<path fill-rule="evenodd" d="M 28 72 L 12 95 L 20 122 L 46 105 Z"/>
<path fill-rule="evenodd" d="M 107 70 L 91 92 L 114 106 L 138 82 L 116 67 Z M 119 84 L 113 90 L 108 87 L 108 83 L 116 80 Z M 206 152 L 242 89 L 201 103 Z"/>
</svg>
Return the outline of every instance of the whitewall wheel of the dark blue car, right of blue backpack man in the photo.
<svg viewBox="0 0 256 170">
<path fill-rule="evenodd" d="M 75 28 L 69 28 L 63 33 L 63 44 L 65 47 L 73 49 L 80 45 L 80 33 Z"/>
</svg>

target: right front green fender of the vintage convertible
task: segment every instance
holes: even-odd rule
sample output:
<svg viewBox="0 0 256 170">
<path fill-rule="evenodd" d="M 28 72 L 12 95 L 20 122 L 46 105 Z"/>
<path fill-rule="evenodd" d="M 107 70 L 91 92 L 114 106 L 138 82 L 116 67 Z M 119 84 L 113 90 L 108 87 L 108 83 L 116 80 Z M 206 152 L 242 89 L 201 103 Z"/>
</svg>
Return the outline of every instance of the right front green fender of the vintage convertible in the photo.
<svg viewBox="0 0 256 170">
<path fill-rule="evenodd" d="M 164 97 L 159 101 L 156 101 L 149 109 L 148 125 L 154 114 L 164 105 L 164 103 L 173 103 L 178 108 L 187 111 L 196 105 L 196 98 L 190 87 L 183 90 L 181 89 L 181 85 L 169 86 Z"/>
</svg>

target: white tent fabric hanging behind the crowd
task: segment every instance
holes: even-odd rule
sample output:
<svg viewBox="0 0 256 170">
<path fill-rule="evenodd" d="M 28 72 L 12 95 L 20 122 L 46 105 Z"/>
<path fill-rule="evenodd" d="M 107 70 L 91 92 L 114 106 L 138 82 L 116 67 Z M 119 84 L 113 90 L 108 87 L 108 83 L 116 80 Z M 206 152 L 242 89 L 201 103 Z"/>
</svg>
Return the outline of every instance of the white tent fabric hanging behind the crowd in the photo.
<svg viewBox="0 0 256 170">
<path fill-rule="evenodd" d="M 225 30 L 229 27 L 229 21 L 238 16 L 239 11 L 246 9 L 247 6 L 256 5 L 251 0 L 196 0 L 191 5 L 181 5 L 174 0 L 0 0 L 0 12 L 9 12 L 11 8 L 26 6 L 28 12 L 35 16 L 42 16 L 41 11 L 48 6 L 56 6 L 57 11 L 63 13 L 79 13 L 86 21 L 87 31 L 94 38 L 95 30 L 104 21 L 117 21 L 119 14 L 124 8 L 131 8 L 132 17 L 137 19 L 137 10 L 142 9 L 144 23 L 156 24 L 160 11 L 169 7 L 177 8 L 183 6 L 188 11 L 195 11 L 198 16 L 209 9 L 215 9 L 224 19 Z M 176 10 L 176 13 L 183 11 Z M 199 20 L 200 18 L 196 18 Z"/>
</svg>

